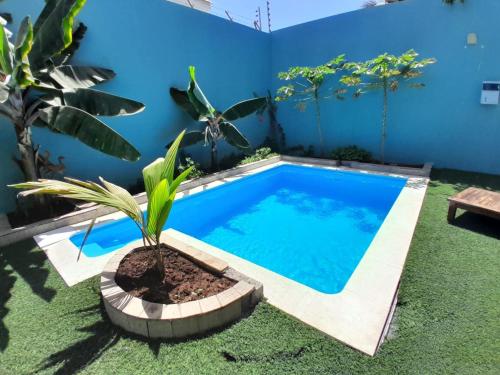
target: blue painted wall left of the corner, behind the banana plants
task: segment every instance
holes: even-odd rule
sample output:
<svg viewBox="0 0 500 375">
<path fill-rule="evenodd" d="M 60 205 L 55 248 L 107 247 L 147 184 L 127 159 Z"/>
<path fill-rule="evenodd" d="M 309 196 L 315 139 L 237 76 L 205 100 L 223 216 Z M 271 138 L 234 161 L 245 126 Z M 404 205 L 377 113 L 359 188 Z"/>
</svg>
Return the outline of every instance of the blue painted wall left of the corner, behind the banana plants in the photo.
<svg viewBox="0 0 500 375">
<path fill-rule="evenodd" d="M 43 0 L 8 0 L 2 9 L 14 14 L 15 25 L 24 15 L 32 18 Z M 225 109 L 270 88 L 270 36 L 222 18 L 165 0 L 88 0 L 79 17 L 88 27 L 75 62 L 110 67 L 117 77 L 98 88 L 140 100 L 146 110 L 136 116 L 106 119 L 142 153 L 136 163 L 102 155 L 69 137 L 35 129 L 34 140 L 56 158 L 65 157 L 66 175 L 95 179 L 98 175 L 131 184 L 142 168 L 165 152 L 165 145 L 183 128 L 196 127 L 170 99 L 169 87 L 186 87 L 188 66 L 197 66 L 200 85 L 212 104 Z M 239 121 L 252 144 L 267 132 L 256 116 Z M 0 212 L 14 208 L 14 193 L 5 187 L 21 180 L 11 161 L 14 132 L 0 124 Z M 222 144 L 222 143 L 221 143 Z M 207 148 L 191 148 L 209 160 Z M 232 151 L 222 147 L 221 154 Z"/>
</svg>

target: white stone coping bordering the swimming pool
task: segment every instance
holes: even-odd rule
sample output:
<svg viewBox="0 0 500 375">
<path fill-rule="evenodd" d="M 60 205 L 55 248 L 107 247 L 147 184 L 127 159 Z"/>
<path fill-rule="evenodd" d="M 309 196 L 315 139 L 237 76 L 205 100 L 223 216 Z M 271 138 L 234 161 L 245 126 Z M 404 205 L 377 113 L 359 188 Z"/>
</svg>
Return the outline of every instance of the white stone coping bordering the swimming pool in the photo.
<svg viewBox="0 0 500 375">
<path fill-rule="evenodd" d="M 345 288 L 337 294 L 325 294 L 283 277 L 222 249 L 210 246 L 183 233 L 169 230 L 169 234 L 193 243 L 198 249 L 226 261 L 230 267 L 258 280 L 264 285 L 268 302 L 302 322 L 344 342 L 374 355 L 395 300 L 399 280 L 410 248 L 428 185 L 428 178 L 368 172 L 345 167 L 332 167 L 312 162 L 277 160 L 252 170 L 223 177 L 179 193 L 176 199 L 211 189 L 226 182 L 259 173 L 283 164 L 315 166 L 334 170 L 349 170 L 369 174 L 406 177 L 408 182 L 388 213 Z M 141 205 L 142 209 L 146 204 Z M 113 213 L 97 219 L 96 226 L 120 220 L 125 215 Z M 89 258 L 81 254 L 70 237 L 86 229 L 90 221 L 69 225 L 35 236 L 52 265 L 68 286 L 75 285 L 101 273 L 114 253 Z"/>
</svg>

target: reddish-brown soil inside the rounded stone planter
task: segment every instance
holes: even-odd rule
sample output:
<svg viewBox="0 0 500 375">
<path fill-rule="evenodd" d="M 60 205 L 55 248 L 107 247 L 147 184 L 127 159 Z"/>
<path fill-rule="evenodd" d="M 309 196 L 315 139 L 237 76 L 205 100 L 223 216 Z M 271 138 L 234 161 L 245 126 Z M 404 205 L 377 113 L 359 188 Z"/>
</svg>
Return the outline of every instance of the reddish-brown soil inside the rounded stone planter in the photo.
<svg viewBox="0 0 500 375">
<path fill-rule="evenodd" d="M 156 251 L 140 248 L 128 254 L 115 275 L 116 283 L 134 297 L 156 303 L 183 303 L 210 297 L 235 282 L 214 274 L 177 251 L 163 248 L 165 278 L 160 280 Z"/>
</svg>

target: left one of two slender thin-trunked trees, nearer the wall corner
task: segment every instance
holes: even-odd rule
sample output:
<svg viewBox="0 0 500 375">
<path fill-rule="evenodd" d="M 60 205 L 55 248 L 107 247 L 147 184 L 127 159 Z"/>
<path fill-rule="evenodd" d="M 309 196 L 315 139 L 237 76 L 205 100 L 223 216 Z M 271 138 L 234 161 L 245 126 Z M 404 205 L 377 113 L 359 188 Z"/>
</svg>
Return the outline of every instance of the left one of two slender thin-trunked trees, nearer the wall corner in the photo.
<svg viewBox="0 0 500 375">
<path fill-rule="evenodd" d="M 323 140 L 323 131 L 321 129 L 321 89 L 328 76 L 336 74 L 343 69 L 345 64 L 345 55 L 337 56 L 329 63 L 316 66 L 295 66 L 287 72 L 278 74 L 278 78 L 284 81 L 293 81 L 293 83 L 278 89 L 276 101 L 285 101 L 290 98 L 296 98 L 298 107 L 304 110 L 307 103 L 312 101 L 316 112 L 316 127 L 320 143 L 321 156 L 324 156 L 325 145 Z"/>
</svg>

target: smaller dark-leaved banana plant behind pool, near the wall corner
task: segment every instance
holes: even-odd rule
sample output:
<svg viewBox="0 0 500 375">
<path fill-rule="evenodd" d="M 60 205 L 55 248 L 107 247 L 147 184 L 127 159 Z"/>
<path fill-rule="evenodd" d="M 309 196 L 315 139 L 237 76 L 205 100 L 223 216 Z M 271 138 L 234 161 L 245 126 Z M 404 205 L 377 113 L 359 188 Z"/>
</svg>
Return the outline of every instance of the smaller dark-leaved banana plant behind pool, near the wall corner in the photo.
<svg viewBox="0 0 500 375">
<path fill-rule="evenodd" d="M 182 146 L 190 146 L 203 142 L 211 148 L 212 170 L 217 169 L 217 142 L 224 139 L 231 146 L 244 152 L 251 149 L 250 143 L 232 121 L 251 115 L 266 105 L 265 97 L 253 98 L 239 102 L 224 112 L 217 111 L 208 101 L 196 82 L 196 70 L 189 67 L 190 82 L 186 91 L 174 87 L 170 95 L 195 121 L 202 123 L 201 130 L 186 133 Z"/>
</svg>

